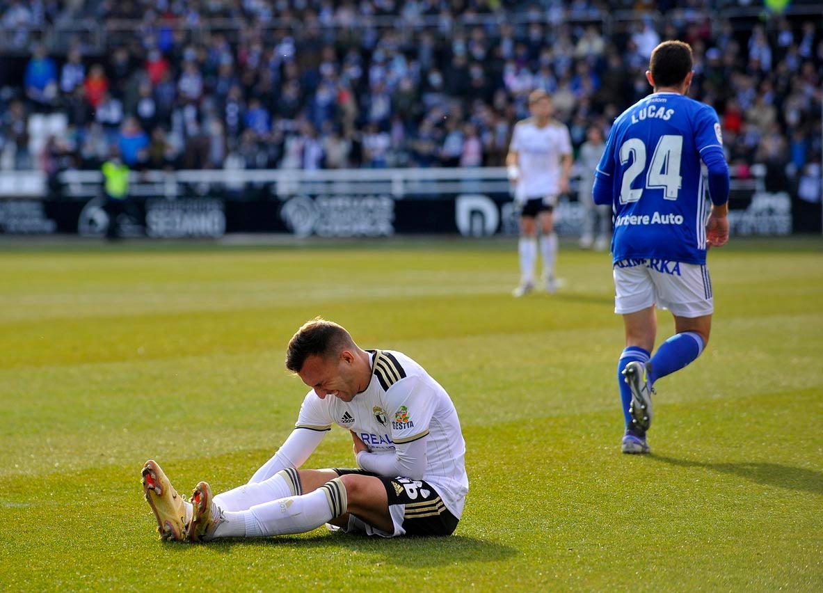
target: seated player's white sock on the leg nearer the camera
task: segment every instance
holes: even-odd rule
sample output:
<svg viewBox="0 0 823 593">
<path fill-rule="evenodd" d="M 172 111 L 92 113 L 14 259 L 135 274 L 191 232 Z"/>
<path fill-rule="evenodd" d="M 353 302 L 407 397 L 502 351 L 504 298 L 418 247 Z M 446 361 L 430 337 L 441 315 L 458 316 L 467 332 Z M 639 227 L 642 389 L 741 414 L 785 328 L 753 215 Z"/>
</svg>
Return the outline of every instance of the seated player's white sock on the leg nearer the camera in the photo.
<svg viewBox="0 0 823 593">
<path fill-rule="evenodd" d="M 223 512 L 214 537 L 266 537 L 305 533 L 346 512 L 346 487 L 339 478 L 312 493 L 255 505 L 248 511 Z"/>
</svg>

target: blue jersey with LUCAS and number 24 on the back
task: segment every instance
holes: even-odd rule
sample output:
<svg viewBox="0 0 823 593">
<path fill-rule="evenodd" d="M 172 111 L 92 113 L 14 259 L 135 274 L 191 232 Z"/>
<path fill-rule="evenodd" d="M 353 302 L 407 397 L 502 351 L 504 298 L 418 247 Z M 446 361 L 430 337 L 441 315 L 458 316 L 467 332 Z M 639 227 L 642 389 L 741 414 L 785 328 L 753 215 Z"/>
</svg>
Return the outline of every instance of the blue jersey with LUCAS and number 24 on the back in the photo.
<svg viewBox="0 0 823 593">
<path fill-rule="evenodd" d="M 700 153 L 708 147 L 723 147 L 717 113 L 677 93 L 653 93 L 616 119 L 595 172 L 612 189 L 615 262 L 706 263 Z"/>
</svg>

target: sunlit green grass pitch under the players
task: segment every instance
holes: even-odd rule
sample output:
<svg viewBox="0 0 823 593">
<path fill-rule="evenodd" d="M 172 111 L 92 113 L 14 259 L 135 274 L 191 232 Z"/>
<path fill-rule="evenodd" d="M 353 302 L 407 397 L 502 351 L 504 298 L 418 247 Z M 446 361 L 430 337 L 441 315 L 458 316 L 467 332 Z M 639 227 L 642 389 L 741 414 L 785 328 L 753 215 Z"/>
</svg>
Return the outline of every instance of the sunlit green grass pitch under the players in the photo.
<svg viewBox="0 0 823 593">
<path fill-rule="evenodd" d="M 621 455 L 607 254 L 561 245 L 515 300 L 514 240 L 0 245 L 0 590 L 821 591 L 823 240 L 712 251 L 711 342 Z M 243 483 L 291 431 L 294 330 L 337 320 L 452 395 L 471 491 L 445 539 L 319 529 L 164 544 L 181 492 Z M 671 318 L 659 315 L 659 338 Z M 307 467 L 353 463 L 333 429 Z"/>
</svg>

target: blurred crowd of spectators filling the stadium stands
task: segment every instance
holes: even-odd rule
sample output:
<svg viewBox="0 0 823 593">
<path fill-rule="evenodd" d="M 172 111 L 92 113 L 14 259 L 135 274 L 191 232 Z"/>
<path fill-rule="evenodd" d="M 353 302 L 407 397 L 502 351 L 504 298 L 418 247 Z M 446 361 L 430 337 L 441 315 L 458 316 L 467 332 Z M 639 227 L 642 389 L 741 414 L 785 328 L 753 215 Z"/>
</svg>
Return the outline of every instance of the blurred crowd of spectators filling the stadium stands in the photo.
<svg viewBox="0 0 823 593">
<path fill-rule="evenodd" d="M 613 2 L 587 0 L 2 0 L 2 51 L 27 63 L 0 91 L 0 168 L 96 168 L 112 147 L 154 169 L 500 166 L 530 91 L 551 93 L 577 149 L 649 93 L 667 39 L 692 45 L 692 95 L 738 176 L 819 163 L 820 16 L 624 4 L 635 17 L 606 33 Z M 107 51 L 40 44 L 90 20 Z"/>
</svg>

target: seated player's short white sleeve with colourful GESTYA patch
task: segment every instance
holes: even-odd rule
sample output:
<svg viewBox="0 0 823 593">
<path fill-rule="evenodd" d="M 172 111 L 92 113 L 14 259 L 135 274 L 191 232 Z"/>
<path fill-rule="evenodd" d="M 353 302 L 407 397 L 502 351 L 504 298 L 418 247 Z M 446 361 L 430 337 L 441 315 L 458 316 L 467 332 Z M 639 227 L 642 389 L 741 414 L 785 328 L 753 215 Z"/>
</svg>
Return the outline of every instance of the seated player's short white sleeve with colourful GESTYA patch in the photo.
<svg viewBox="0 0 823 593">
<path fill-rule="evenodd" d="M 429 424 L 435 413 L 435 391 L 416 376 L 398 381 L 386 392 L 392 441 L 416 441 L 429 434 Z"/>
</svg>

